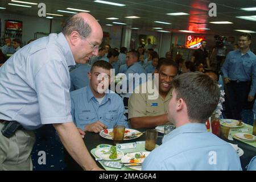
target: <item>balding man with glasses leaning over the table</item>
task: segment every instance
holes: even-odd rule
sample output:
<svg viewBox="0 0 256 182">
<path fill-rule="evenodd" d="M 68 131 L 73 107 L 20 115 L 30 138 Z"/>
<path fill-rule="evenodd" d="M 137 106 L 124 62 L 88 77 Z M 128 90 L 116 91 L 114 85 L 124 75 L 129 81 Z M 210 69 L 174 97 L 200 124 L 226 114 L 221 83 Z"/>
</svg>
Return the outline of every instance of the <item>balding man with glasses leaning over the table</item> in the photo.
<svg viewBox="0 0 256 182">
<path fill-rule="evenodd" d="M 71 115 L 70 65 L 98 55 L 103 32 L 90 14 L 72 16 L 60 34 L 35 40 L 14 53 L 0 68 L 0 170 L 31 170 L 31 130 L 52 124 L 61 142 L 83 169 L 99 170 Z"/>
</svg>

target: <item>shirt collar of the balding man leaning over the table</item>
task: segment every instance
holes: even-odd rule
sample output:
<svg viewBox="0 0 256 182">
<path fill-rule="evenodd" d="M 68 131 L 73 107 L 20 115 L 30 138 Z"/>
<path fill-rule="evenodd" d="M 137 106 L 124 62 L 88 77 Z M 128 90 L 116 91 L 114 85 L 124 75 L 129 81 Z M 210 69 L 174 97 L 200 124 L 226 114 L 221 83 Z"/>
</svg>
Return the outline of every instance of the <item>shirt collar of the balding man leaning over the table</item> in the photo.
<svg viewBox="0 0 256 182">
<path fill-rule="evenodd" d="M 57 35 L 57 42 L 60 44 L 60 49 L 64 52 L 68 66 L 76 65 L 72 51 L 68 45 L 68 41 L 62 32 Z"/>
</svg>

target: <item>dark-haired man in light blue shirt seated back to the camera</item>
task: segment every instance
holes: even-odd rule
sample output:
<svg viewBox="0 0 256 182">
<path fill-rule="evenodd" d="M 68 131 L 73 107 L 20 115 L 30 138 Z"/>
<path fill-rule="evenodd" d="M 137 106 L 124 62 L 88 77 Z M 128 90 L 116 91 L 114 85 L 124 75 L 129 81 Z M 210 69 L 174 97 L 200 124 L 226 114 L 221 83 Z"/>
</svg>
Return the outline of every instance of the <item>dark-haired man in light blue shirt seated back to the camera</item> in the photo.
<svg viewBox="0 0 256 182">
<path fill-rule="evenodd" d="M 184 73 L 172 81 L 168 118 L 176 129 L 143 162 L 143 170 L 241 170 L 233 147 L 209 133 L 205 121 L 218 104 L 220 90 L 203 73 Z"/>
</svg>

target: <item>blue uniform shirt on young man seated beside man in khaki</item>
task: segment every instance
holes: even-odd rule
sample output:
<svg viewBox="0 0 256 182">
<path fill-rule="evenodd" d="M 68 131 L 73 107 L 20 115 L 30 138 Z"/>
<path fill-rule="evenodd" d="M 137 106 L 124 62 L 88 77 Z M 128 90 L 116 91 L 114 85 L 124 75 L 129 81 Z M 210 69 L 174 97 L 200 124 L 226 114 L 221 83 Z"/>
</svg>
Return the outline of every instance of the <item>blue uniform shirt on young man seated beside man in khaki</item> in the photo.
<svg viewBox="0 0 256 182">
<path fill-rule="evenodd" d="M 108 91 L 101 104 L 93 96 L 90 86 L 71 92 L 71 113 L 77 127 L 84 130 L 86 125 L 100 121 L 108 129 L 113 129 L 115 125 L 128 128 L 122 98 Z"/>
</svg>

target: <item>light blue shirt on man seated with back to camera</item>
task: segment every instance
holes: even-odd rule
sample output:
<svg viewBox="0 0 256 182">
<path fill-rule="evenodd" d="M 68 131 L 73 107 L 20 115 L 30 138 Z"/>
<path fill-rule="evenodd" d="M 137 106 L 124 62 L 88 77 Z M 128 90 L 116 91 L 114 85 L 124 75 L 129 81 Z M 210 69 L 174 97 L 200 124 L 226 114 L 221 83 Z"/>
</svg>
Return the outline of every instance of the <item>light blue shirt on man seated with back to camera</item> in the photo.
<svg viewBox="0 0 256 182">
<path fill-rule="evenodd" d="M 233 147 L 209 133 L 204 124 L 189 123 L 171 131 L 144 160 L 144 171 L 242 170 Z"/>
</svg>

